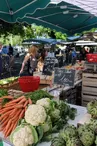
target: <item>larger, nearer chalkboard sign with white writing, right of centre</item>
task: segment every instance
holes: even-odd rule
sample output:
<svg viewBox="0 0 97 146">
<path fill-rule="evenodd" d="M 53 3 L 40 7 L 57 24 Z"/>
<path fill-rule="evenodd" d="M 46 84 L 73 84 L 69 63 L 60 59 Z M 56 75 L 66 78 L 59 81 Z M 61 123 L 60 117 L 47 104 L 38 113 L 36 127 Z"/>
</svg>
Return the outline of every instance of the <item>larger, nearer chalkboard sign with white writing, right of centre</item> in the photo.
<svg viewBox="0 0 97 146">
<path fill-rule="evenodd" d="M 55 68 L 54 71 L 54 84 L 64 86 L 74 86 L 75 70 L 67 70 L 64 68 Z"/>
</svg>

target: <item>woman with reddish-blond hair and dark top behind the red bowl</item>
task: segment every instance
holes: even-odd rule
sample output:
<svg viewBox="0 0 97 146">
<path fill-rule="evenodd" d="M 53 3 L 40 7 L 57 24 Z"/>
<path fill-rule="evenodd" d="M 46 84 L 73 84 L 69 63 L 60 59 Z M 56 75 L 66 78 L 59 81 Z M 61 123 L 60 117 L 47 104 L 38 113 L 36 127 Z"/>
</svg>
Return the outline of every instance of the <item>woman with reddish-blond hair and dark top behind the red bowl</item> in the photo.
<svg viewBox="0 0 97 146">
<path fill-rule="evenodd" d="M 24 61 L 22 63 L 22 67 L 20 70 L 20 76 L 32 76 L 33 72 L 36 70 L 37 67 L 37 47 L 32 46 L 29 48 L 29 52 L 26 54 Z M 24 67 L 27 64 L 27 71 L 24 71 Z"/>
</svg>

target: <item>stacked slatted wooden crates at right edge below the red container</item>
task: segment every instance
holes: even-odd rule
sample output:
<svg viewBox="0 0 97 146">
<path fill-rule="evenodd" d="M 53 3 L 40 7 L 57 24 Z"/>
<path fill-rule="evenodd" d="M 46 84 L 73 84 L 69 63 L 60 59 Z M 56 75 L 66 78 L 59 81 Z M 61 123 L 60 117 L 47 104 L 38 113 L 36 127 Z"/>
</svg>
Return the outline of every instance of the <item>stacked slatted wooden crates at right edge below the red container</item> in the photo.
<svg viewBox="0 0 97 146">
<path fill-rule="evenodd" d="M 97 74 L 83 73 L 82 77 L 82 105 L 97 99 Z"/>
</svg>

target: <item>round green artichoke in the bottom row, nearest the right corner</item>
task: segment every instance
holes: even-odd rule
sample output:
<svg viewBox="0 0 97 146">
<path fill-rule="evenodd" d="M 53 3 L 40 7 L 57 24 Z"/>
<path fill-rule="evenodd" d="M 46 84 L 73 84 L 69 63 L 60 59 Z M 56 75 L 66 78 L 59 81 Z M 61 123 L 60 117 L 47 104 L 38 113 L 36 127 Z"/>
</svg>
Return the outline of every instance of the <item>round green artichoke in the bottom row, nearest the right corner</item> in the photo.
<svg viewBox="0 0 97 146">
<path fill-rule="evenodd" d="M 89 125 L 81 125 L 78 128 L 79 138 L 84 146 L 91 146 L 95 141 L 95 134 Z"/>
</svg>

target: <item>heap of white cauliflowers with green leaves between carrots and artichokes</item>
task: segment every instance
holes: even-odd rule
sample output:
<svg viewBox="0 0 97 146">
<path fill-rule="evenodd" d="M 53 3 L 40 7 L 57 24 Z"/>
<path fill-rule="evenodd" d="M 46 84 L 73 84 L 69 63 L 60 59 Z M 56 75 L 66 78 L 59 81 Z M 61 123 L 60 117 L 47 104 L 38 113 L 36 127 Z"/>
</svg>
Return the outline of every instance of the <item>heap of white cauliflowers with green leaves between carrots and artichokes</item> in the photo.
<svg viewBox="0 0 97 146">
<path fill-rule="evenodd" d="M 31 100 L 31 98 L 29 99 Z M 19 100 L 19 98 L 15 100 Z M 21 101 L 19 100 L 19 102 Z M 17 107 L 16 104 L 14 107 Z M 69 119 L 74 119 L 75 114 L 76 109 L 70 108 L 63 101 L 56 102 L 49 98 L 41 98 L 33 104 L 32 100 L 32 105 L 28 105 L 25 110 L 24 118 L 18 122 L 15 129 L 12 128 L 10 141 L 14 146 L 34 146 L 41 141 L 50 141 L 52 134 L 59 132 Z"/>
</svg>

